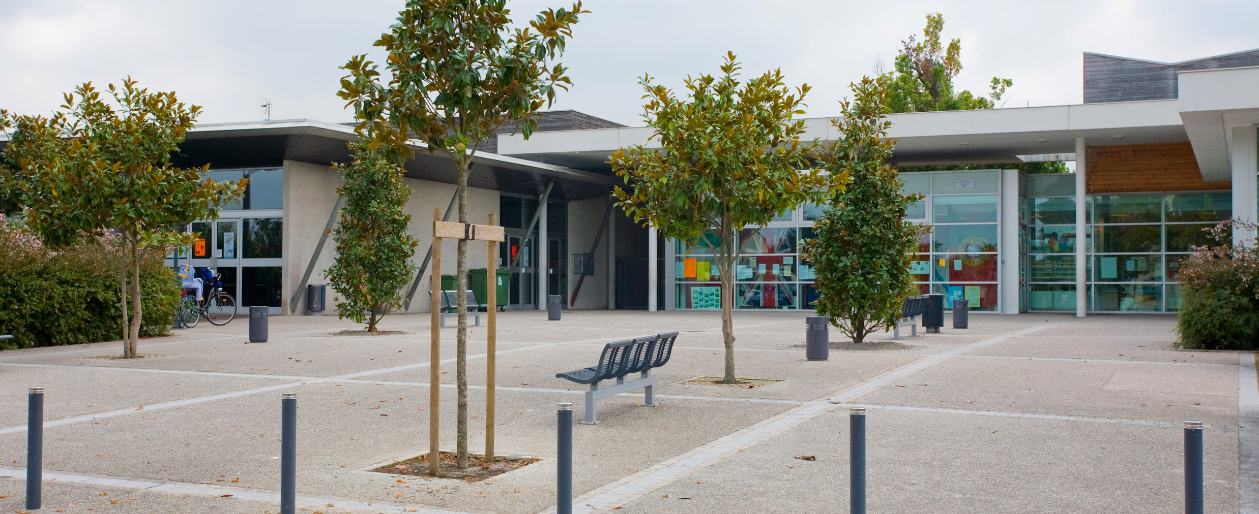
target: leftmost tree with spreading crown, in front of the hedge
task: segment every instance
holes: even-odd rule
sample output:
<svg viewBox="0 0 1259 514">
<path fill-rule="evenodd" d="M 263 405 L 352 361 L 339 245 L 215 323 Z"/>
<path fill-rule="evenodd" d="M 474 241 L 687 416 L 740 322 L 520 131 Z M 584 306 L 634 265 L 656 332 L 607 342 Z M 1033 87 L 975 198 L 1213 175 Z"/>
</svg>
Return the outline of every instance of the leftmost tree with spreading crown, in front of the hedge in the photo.
<svg viewBox="0 0 1259 514">
<path fill-rule="evenodd" d="M 170 245 L 189 245 L 183 227 L 215 219 L 239 199 L 246 181 L 203 178 L 206 167 L 170 165 L 201 108 L 174 92 L 150 93 L 130 77 L 110 84 L 113 104 L 86 83 L 65 94 L 52 117 L 0 114 L 0 129 L 14 129 L 0 176 L 24 207 L 26 224 L 49 245 L 81 238 L 116 238 L 115 270 L 122 302 L 122 356 L 136 357 L 140 338 L 140 264 Z M 131 300 L 131 310 L 127 300 Z"/>
</svg>

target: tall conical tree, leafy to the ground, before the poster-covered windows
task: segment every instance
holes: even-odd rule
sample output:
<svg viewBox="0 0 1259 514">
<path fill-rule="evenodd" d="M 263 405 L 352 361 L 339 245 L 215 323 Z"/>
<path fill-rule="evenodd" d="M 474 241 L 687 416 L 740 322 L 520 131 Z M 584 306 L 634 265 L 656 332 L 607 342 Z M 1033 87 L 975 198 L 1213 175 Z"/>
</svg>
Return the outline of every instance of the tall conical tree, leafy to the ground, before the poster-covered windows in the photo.
<svg viewBox="0 0 1259 514">
<path fill-rule="evenodd" d="M 855 98 L 840 102 L 842 118 L 831 123 L 841 137 L 820 153 L 821 167 L 847 173 L 852 183 L 831 199 L 831 209 L 813 222 L 813 239 L 801 258 L 813 266 L 813 302 L 844 334 L 861 343 L 871 332 L 900 318 L 913 289 L 909 261 L 923 227 L 904 221 L 905 209 L 920 195 L 904 195 L 896 168 L 888 165 L 895 146 L 888 138 L 888 89 L 884 78 L 852 84 Z"/>
</svg>

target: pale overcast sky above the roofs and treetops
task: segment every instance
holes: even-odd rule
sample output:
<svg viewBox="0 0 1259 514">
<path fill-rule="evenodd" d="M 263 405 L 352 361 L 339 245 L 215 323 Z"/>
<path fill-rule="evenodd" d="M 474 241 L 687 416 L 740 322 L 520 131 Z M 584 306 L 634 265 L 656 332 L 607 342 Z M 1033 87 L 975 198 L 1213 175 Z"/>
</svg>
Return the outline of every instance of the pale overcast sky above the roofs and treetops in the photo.
<svg viewBox="0 0 1259 514">
<path fill-rule="evenodd" d="M 131 75 L 204 107 L 201 122 L 350 121 L 337 69 L 393 21 L 399 0 L 0 0 L 0 108 L 47 113 L 62 93 Z M 509 1 L 528 20 L 556 0 Z M 631 1 L 592 0 L 562 62 L 574 87 L 551 108 L 641 126 L 637 77 L 679 88 L 733 50 L 747 74 L 807 82 L 810 116 L 833 116 L 847 84 L 890 62 L 900 40 L 944 15 L 962 39 L 959 85 L 1005 107 L 1079 103 L 1081 53 L 1176 62 L 1259 48 L 1255 1 Z"/>
</svg>

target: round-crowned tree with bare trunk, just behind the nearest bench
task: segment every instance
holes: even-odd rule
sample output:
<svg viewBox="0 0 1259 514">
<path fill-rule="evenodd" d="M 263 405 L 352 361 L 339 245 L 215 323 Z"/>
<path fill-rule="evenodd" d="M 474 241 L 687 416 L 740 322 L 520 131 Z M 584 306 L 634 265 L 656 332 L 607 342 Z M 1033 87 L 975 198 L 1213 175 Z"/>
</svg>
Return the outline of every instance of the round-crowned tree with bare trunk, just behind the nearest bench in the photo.
<svg viewBox="0 0 1259 514">
<path fill-rule="evenodd" d="M 690 99 L 679 99 L 645 75 L 643 119 L 660 148 L 621 148 L 609 161 L 633 187 L 632 194 L 613 191 L 627 216 L 666 238 L 714 232 L 725 341 L 723 383 L 735 383 L 731 310 L 738 235 L 805 201 L 830 196 L 847 178 L 808 170 L 812 145 L 801 141 L 805 122 L 792 121 L 803 113 L 808 84 L 793 92 L 777 69 L 740 83 L 738 72 L 734 53 L 726 53 L 721 75 L 687 78 Z"/>
</svg>

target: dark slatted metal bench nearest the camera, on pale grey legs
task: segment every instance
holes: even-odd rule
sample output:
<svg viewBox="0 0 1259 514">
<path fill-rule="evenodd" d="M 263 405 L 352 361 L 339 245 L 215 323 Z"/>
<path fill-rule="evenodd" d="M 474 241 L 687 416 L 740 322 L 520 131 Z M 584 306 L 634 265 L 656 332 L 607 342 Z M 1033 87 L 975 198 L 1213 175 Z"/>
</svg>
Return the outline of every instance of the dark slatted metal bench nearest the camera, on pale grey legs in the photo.
<svg viewBox="0 0 1259 514">
<path fill-rule="evenodd" d="M 588 368 L 574 369 L 567 373 L 555 373 L 555 378 L 565 378 L 577 383 L 585 383 L 590 390 L 585 392 L 585 420 L 583 425 L 598 425 L 594 416 L 594 406 L 599 398 L 619 395 L 622 392 L 643 390 L 643 407 L 655 407 L 656 402 L 656 377 L 651 369 L 665 366 L 674 353 L 674 341 L 677 332 L 641 337 L 630 341 L 608 343 L 599 354 L 599 363 Z M 626 381 L 630 373 L 640 373 L 638 378 Z M 616 378 L 614 386 L 599 386 L 599 382 Z"/>
</svg>

